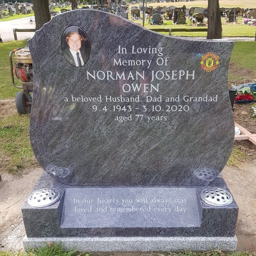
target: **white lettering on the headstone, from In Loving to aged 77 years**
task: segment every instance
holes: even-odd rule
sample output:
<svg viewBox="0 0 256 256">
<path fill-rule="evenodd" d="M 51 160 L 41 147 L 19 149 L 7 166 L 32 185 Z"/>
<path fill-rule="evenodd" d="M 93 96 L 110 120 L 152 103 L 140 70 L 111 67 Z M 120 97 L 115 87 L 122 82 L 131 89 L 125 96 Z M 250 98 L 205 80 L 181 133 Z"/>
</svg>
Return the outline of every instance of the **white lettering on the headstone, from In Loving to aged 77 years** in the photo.
<svg viewBox="0 0 256 256">
<path fill-rule="evenodd" d="M 113 66 L 141 66 L 145 70 L 141 71 L 102 71 L 102 70 L 86 70 L 87 80 L 120 80 L 120 86 L 123 94 L 120 95 L 70 95 L 64 98 L 64 102 L 72 102 L 72 104 L 83 102 L 85 107 L 89 107 L 89 111 L 101 113 L 113 113 L 113 120 L 118 122 L 143 121 L 158 122 L 171 119 L 168 113 L 189 112 L 191 108 L 190 102 L 198 104 L 214 104 L 218 101 L 218 95 L 163 95 L 161 93 L 161 82 L 172 80 L 194 80 L 195 70 L 164 70 L 170 66 L 170 57 L 164 57 L 164 47 L 135 47 L 130 48 L 118 46 L 117 54 L 119 58 L 114 57 Z M 126 60 L 123 56 L 143 55 L 150 59 Z M 130 55 L 132 54 L 132 55 Z M 159 70 L 151 70 L 151 64 L 155 62 L 159 66 Z M 156 66 L 154 65 L 154 66 Z M 160 69 L 161 68 L 161 69 Z M 123 82 L 122 84 L 122 81 Z M 128 82 L 127 82 L 128 81 Z M 131 83 L 129 83 L 131 81 Z M 141 82 L 140 82 L 141 81 Z M 152 83 L 145 83 L 149 81 Z M 154 83 L 154 81 L 157 81 Z M 165 82 L 166 83 L 166 82 Z M 93 83 L 90 83 L 93 85 Z M 104 86 L 104 84 L 103 84 Z M 170 89 L 171 91 L 171 89 Z M 132 97 L 125 95 L 126 93 L 134 93 Z M 154 94 L 154 97 L 149 94 Z M 155 94 L 158 94 L 156 96 Z M 141 104 L 142 102 L 142 104 Z M 122 115 L 116 115 L 117 112 Z M 134 112 L 134 113 L 133 113 Z M 160 114 L 161 113 L 161 114 Z M 126 114 L 126 115 L 124 115 Z M 128 114 L 128 115 L 127 115 Z"/>
</svg>

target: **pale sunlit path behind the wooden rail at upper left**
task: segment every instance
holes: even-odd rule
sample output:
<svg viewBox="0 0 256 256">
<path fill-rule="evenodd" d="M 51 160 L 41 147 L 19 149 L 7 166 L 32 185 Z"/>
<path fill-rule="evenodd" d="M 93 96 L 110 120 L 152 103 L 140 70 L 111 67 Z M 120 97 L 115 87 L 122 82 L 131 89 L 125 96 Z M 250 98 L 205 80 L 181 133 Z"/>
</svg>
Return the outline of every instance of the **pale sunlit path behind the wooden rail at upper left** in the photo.
<svg viewBox="0 0 256 256">
<path fill-rule="evenodd" d="M 33 24 L 30 24 L 30 19 L 33 20 Z M 14 19 L 12 21 L 1 21 L 0 22 L 0 35 L 3 42 L 14 40 L 12 29 L 19 28 L 36 28 L 35 17 L 26 17 L 21 19 Z M 31 38 L 35 32 L 17 32 L 18 40 Z"/>
</svg>

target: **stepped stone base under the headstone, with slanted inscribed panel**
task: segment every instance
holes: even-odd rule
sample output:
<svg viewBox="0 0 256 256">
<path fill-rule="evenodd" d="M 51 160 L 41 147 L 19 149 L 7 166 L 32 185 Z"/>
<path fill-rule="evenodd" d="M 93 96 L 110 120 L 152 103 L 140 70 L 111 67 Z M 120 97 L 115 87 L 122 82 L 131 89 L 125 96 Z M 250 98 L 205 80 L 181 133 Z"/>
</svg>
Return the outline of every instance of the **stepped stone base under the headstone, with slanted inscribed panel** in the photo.
<svg viewBox="0 0 256 256">
<path fill-rule="evenodd" d="M 238 206 L 234 199 L 206 204 L 200 194 L 210 187 L 228 191 L 220 176 L 209 185 L 77 186 L 44 173 L 33 192 L 53 188 L 61 196 L 42 208 L 24 203 L 24 247 L 59 241 L 80 251 L 235 250 Z"/>
</svg>

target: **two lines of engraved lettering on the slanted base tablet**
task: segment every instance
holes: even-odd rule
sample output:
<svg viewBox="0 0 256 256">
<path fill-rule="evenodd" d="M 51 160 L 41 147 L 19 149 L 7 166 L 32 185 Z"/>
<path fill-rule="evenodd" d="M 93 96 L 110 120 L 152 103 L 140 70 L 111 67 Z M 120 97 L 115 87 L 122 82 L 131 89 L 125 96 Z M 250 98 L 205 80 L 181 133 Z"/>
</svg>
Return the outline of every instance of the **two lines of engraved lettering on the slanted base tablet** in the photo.
<svg viewBox="0 0 256 256">
<path fill-rule="evenodd" d="M 142 197 L 139 199 L 133 198 L 114 198 L 114 199 L 78 199 L 73 198 L 75 213 L 93 213 L 93 212 L 163 212 L 163 213 L 185 213 L 187 210 L 185 198 L 158 198 L 158 197 Z M 109 206 L 111 205 L 111 206 Z"/>
</svg>

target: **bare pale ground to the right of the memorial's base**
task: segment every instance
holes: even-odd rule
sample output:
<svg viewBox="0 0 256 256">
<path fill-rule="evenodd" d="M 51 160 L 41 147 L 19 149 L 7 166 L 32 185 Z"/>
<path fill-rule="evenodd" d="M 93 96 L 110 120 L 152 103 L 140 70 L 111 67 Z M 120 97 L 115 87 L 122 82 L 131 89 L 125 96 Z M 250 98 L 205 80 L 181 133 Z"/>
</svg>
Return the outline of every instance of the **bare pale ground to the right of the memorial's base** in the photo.
<svg viewBox="0 0 256 256">
<path fill-rule="evenodd" d="M 252 143 L 251 143 L 252 144 Z M 256 251 L 256 161 L 225 167 L 221 172 L 239 207 L 237 250 Z"/>
</svg>

